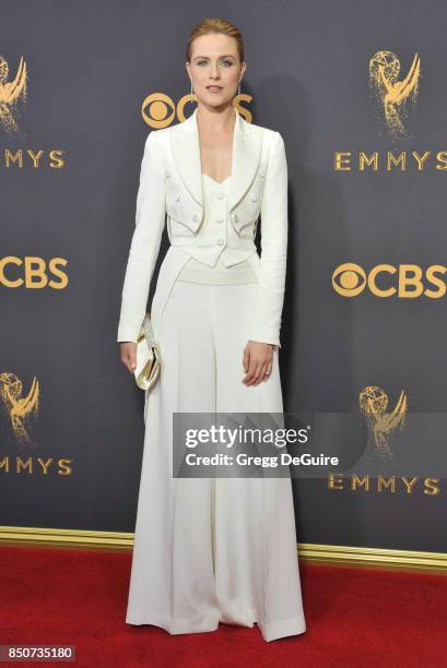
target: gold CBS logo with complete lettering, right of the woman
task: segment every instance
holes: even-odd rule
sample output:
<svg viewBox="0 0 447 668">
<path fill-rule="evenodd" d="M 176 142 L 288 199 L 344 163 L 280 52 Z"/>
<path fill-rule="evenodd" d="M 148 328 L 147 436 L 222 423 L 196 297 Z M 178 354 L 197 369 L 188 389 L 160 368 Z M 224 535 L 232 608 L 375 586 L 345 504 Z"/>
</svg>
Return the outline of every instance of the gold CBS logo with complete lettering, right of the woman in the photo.
<svg viewBox="0 0 447 668">
<path fill-rule="evenodd" d="M 377 264 L 368 274 L 358 264 L 345 262 L 332 274 L 332 287 L 342 297 L 357 297 L 368 287 L 376 297 L 415 298 L 425 295 L 439 299 L 446 294 L 446 281 L 443 276 L 447 266 L 432 264 L 425 271 L 417 264 Z M 440 275 L 440 276 L 439 276 Z M 435 289 L 432 289 L 434 286 Z"/>
</svg>

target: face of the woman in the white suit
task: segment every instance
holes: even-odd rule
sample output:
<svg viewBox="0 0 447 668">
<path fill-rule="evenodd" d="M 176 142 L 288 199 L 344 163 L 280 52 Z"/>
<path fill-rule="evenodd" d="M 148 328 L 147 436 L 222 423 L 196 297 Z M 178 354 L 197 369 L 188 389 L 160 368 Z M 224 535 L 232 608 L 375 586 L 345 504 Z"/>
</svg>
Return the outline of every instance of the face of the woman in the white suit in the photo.
<svg viewBox="0 0 447 668">
<path fill-rule="evenodd" d="M 198 100 L 211 107 L 233 102 L 245 67 L 239 63 L 236 39 L 222 34 L 197 37 L 186 63 Z"/>
</svg>

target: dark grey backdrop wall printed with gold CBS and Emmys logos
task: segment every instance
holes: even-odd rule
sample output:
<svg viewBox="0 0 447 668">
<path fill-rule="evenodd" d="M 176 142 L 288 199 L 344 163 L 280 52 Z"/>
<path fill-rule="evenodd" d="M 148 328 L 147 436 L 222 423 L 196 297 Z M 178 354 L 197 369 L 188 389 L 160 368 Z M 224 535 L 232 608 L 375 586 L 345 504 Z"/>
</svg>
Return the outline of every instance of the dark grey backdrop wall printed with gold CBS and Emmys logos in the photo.
<svg viewBox="0 0 447 668">
<path fill-rule="evenodd" d="M 1 7 L 0 524 L 134 528 L 144 394 L 116 337 L 140 164 L 196 108 L 186 41 L 219 15 L 238 112 L 286 147 L 284 410 L 302 454 L 339 457 L 295 469 L 298 540 L 447 552 L 447 5 Z"/>
</svg>

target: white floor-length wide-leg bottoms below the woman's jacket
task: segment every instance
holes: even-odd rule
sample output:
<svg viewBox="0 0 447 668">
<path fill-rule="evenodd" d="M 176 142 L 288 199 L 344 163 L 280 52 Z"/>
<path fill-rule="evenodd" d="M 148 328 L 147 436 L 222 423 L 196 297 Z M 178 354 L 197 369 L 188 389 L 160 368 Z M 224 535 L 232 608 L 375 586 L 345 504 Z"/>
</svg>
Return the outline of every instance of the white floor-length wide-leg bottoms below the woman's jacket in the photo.
<svg viewBox="0 0 447 668">
<path fill-rule="evenodd" d="M 257 622 L 266 641 L 303 633 L 291 479 L 173 477 L 173 411 L 283 410 L 277 348 L 270 379 L 243 383 L 257 285 L 172 281 L 178 266 L 168 252 L 153 300 L 162 374 L 145 396 L 126 622 L 170 634 Z"/>
</svg>

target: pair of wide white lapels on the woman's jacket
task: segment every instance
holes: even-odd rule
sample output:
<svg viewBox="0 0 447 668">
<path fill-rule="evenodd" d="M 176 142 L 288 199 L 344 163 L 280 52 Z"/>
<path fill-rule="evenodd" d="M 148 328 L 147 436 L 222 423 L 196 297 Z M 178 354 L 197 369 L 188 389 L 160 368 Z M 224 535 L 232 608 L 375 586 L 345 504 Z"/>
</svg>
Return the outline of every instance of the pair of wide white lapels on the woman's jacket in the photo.
<svg viewBox="0 0 447 668">
<path fill-rule="evenodd" d="M 261 156 L 261 132 L 256 132 L 234 108 L 236 122 L 233 132 L 232 178 L 227 190 L 228 211 L 243 199 L 255 178 Z M 170 142 L 176 167 L 181 179 L 201 205 L 203 214 L 202 169 L 200 159 L 197 107 L 184 122 L 170 128 Z"/>
</svg>

